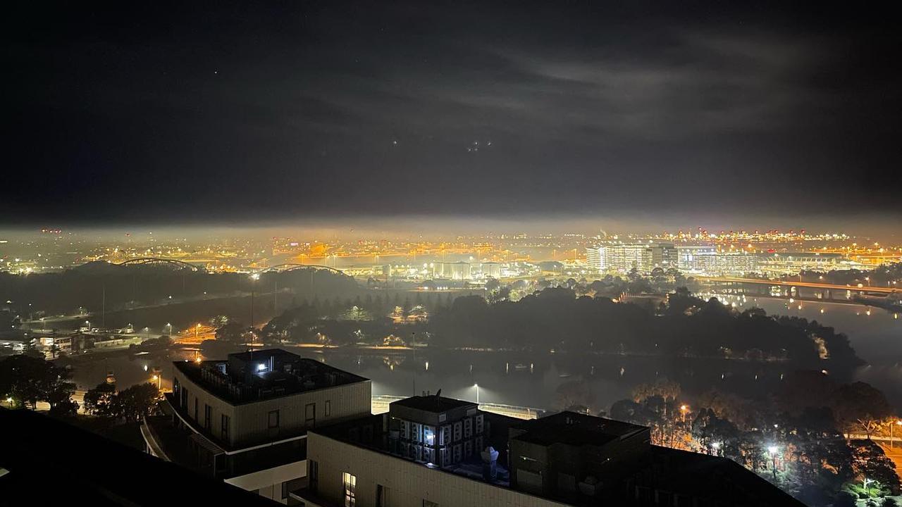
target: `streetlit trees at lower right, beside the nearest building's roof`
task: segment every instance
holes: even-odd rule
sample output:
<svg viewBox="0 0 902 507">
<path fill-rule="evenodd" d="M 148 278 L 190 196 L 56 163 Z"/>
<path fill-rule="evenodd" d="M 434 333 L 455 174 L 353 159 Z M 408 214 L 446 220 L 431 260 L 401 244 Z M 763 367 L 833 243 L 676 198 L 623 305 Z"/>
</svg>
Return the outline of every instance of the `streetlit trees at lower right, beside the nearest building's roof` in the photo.
<svg viewBox="0 0 902 507">
<path fill-rule="evenodd" d="M 887 435 L 891 415 L 870 385 L 811 371 L 787 375 L 755 400 L 716 388 L 687 396 L 678 383 L 659 380 L 637 386 L 610 411 L 649 426 L 655 444 L 728 457 L 808 505 L 834 507 L 899 493 L 892 461 L 871 440 Z"/>
</svg>

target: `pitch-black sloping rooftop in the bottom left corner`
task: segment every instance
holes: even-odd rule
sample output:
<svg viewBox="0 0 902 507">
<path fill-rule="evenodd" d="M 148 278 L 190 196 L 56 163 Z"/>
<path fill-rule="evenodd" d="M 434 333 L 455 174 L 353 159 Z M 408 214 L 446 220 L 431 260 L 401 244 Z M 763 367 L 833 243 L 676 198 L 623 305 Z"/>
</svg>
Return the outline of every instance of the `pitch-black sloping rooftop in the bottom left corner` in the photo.
<svg viewBox="0 0 902 507">
<path fill-rule="evenodd" d="M 0 428 L 0 504 L 278 505 L 30 410 L 0 409 Z"/>
</svg>

